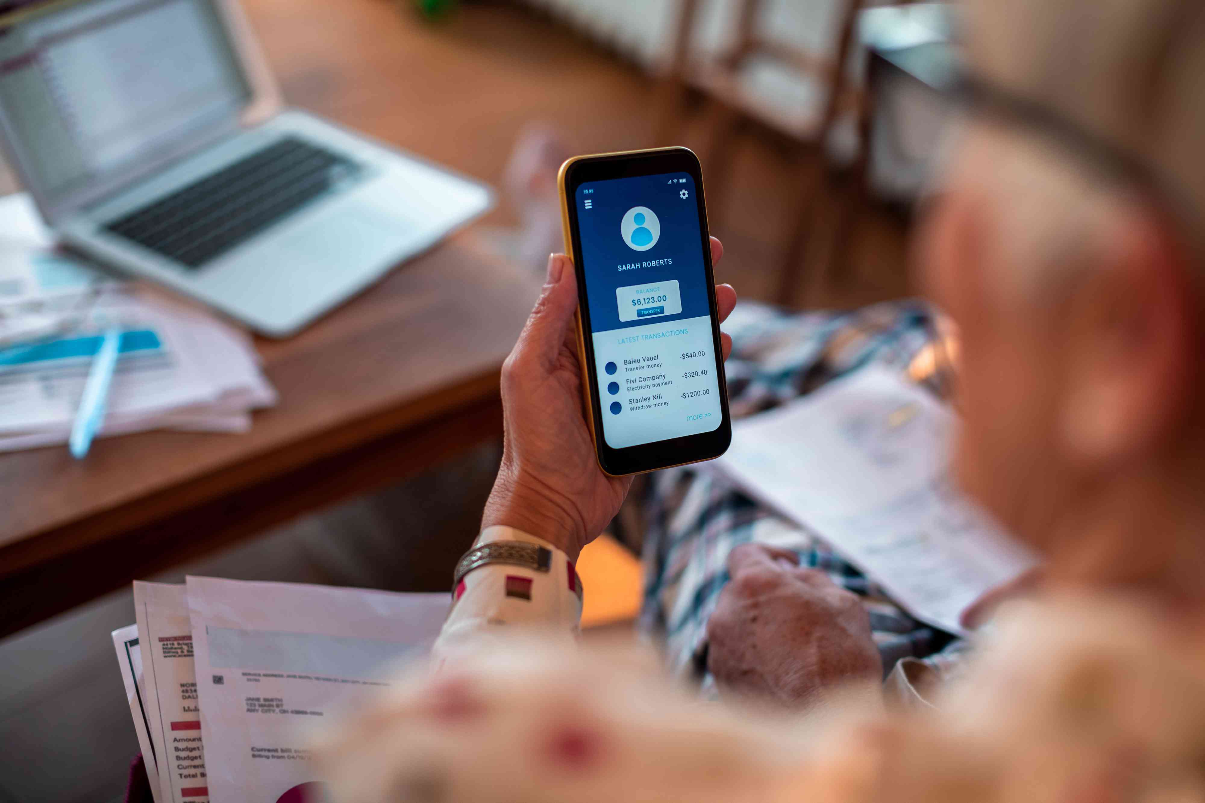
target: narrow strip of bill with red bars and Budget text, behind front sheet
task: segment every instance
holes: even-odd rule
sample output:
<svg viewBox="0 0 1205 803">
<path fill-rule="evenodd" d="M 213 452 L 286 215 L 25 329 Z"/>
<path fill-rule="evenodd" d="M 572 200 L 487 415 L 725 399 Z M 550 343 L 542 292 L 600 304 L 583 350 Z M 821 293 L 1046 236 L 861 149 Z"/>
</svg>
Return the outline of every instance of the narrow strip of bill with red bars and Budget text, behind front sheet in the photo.
<svg viewBox="0 0 1205 803">
<path fill-rule="evenodd" d="M 196 701 L 193 633 L 183 585 L 134 584 L 146 667 L 151 739 L 159 761 L 159 803 L 207 803 L 208 779 Z"/>
</svg>

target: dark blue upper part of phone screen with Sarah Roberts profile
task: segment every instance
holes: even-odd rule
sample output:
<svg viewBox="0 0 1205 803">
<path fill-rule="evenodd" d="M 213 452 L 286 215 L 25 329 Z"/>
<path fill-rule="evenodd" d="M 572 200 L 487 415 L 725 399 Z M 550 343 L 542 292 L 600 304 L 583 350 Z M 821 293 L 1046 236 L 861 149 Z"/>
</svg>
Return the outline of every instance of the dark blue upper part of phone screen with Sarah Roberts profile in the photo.
<svg viewBox="0 0 1205 803">
<path fill-rule="evenodd" d="M 575 202 L 592 331 L 711 313 L 688 173 L 590 182 Z"/>
</svg>

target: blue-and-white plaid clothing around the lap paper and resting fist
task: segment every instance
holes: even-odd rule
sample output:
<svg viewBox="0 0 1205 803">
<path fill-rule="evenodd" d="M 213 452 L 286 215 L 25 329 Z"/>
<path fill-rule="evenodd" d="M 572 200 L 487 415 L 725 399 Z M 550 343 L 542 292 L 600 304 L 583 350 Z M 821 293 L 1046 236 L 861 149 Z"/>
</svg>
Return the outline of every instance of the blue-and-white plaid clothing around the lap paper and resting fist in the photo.
<svg viewBox="0 0 1205 803">
<path fill-rule="evenodd" d="M 931 309 L 915 301 L 801 314 L 742 302 L 724 326 L 733 337 L 725 367 L 733 418 L 771 409 L 871 362 L 904 371 L 934 329 Z M 715 693 L 707 618 L 729 579 L 728 553 L 750 542 L 794 550 L 801 566 L 822 568 L 862 595 L 886 672 L 909 657 L 924 659 L 939 677 L 959 667 L 963 642 L 918 624 L 813 533 L 706 467 L 654 474 L 643 519 L 642 625 L 664 640 L 670 667 L 696 677 L 705 693 Z"/>
</svg>

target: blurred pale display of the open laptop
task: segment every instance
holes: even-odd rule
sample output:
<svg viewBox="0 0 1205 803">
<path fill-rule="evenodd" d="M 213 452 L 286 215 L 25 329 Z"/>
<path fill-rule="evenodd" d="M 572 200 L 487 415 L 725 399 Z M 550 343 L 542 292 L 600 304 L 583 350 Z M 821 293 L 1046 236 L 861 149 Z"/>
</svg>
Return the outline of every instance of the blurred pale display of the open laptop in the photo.
<svg viewBox="0 0 1205 803">
<path fill-rule="evenodd" d="M 30 183 L 65 197 L 237 116 L 211 0 L 0 2 L 0 106 Z"/>
</svg>

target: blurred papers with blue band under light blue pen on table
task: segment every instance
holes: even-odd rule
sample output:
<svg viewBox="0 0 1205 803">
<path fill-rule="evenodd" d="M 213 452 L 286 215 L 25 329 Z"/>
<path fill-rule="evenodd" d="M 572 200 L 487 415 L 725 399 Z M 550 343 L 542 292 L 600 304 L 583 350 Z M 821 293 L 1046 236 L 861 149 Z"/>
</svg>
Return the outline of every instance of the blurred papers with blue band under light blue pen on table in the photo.
<svg viewBox="0 0 1205 803">
<path fill-rule="evenodd" d="M 66 442 L 112 327 L 122 335 L 101 436 L 239 432 L 276 402 L 245 333 L 65 258 L 27 195 L 0 199 L 0 450 Z"/>
</svg>

